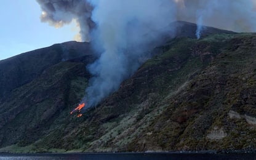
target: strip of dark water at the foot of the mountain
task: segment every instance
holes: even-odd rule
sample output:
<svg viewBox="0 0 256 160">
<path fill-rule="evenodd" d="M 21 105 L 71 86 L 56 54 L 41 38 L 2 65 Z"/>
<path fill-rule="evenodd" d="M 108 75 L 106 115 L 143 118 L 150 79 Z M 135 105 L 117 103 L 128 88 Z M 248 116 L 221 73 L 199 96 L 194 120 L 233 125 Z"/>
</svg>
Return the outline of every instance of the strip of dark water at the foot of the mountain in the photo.
<svg viewBox="0 0 256 160">
<path fill-rule="evenodd" d="M 87 153 L 87 154 L 0 154 L 0 159 L 256 159 L 256 154 L 206 154 L 206 153 Z"/>
</svg>

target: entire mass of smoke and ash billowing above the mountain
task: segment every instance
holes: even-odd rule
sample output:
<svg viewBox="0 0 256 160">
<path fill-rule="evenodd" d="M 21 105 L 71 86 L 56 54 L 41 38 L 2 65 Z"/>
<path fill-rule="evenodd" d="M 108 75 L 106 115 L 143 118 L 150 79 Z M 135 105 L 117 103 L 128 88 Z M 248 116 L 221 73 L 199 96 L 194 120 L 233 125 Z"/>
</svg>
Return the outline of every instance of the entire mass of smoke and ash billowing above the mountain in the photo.
<svg viewBox="0 0 256 160">
<path fill-rule="evenodd" d="M 82 41 L 92 40 L 100 51 L 88 67 L 93 78 L 84 100 L 97 105 L 117 90 L 150 55 L 164 34 L 174 34 L 175 20 L 238 32 L 256 31 L 255 0 L 37 0 L 42 22 L 60 27 L 76 20 Z M 149 47 L 150 46 L 150 47 Z"/>
</svg>

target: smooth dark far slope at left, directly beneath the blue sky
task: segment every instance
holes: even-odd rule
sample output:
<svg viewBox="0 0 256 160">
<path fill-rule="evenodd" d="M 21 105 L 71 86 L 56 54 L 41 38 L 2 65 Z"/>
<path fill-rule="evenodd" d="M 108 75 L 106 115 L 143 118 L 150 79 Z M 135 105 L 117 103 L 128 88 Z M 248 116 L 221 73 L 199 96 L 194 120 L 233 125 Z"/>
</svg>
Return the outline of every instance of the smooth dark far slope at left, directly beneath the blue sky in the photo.
<svg viewBox="0 0 256 160">
<path fill-rule="evenodd" d="M 0 99 L 12 89 L 37 78 L 42 71 L 62 61 L 93 55 L 90 44 L 65 42 L 0 60 Z"/>
</svg>

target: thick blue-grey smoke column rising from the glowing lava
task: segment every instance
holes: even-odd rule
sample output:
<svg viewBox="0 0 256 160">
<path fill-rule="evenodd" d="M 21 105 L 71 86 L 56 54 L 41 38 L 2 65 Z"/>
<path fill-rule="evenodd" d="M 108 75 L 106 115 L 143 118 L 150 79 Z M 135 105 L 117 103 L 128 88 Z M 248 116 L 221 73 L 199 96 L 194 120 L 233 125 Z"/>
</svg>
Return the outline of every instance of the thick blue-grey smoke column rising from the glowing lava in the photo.
<svg viewBox="0 0 256 160">
<path fill-rule="evenodd" d="M 118 89 L 146 59 L 146 44 L 156 44 L 167 27 L 175 20 L 175 3 L 170 0 L 99 0 L 91 1 L 95 7 L 92 20 L 97 24 L 94 33 L 103 53 L 89 66 L 94 75 L 86 89 L 89 106 Z M 145 7 L 146 6 L 146 7 Z M 154 46 L 151 46 L 154 47 Z"/>
</svg>

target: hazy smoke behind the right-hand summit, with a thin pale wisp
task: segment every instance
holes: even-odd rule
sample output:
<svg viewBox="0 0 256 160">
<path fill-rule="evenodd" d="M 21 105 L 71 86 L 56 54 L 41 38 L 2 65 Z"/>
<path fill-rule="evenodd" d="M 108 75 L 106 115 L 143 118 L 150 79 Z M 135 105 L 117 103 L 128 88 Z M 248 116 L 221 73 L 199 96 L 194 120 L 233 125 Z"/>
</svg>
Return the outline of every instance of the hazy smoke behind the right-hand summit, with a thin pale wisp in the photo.
<svg viewBox="0 0 256 160">
<path fill-rule="evenodd" d="M 177 0 L 178 20 L 197 23 L 196 36 L 203 25 L 237 32 L 256 31 L 255 0 Z"/>
</svg>

